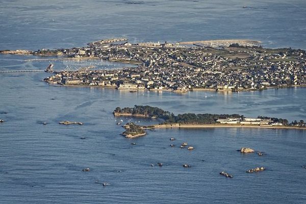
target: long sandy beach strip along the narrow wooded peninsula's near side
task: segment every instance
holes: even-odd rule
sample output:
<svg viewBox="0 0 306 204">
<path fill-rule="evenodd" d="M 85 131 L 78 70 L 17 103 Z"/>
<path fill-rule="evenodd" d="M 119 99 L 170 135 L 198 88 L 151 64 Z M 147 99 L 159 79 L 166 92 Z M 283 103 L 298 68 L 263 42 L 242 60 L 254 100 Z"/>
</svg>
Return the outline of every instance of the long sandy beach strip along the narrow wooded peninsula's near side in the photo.
<svg viewBox="0 0 306 204">
<path fill-rule="evenodd" d="M 155 124 L 151 125 L 154 126 L 154 129 L 161 129 L 161 128 L 186 128 L 186 129 L 201 129 L 201 128 L 228 128 L 228 127 L 238 127 L 238 128 L 264 128 L 264 129 L 297 129 L 297 130 L 305 130 L 306 127 L 299 127 L 299 126 L 285 126 L 285 125 L 278 125 L 278 126 L 260 126 L 260 125 L 249 125 L 249 124 Z"/>
</svg>

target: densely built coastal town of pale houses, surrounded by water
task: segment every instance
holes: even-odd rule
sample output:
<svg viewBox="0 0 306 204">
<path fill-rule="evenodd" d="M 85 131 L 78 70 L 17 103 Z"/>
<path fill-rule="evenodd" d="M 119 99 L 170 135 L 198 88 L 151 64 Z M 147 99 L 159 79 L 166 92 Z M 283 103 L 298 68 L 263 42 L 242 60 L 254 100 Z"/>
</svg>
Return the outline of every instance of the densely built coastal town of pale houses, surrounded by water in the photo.
<svg viewBox="0 0 306 204">
<path fill-rule="evenodd" d="M 107 70 L 90 67 L 55 71 L 48 67 L 46 71 L 54 75 L 44 81 L 67 86 L 175 92 L 306 86 L 305 50 L 263 48 L 256 41 L 247 40 L 131 44 L 122 38 L 91 42 L 79 48 L 0 53 L 103 59 L 127 64 L 124 68 Z"/>
</svg>

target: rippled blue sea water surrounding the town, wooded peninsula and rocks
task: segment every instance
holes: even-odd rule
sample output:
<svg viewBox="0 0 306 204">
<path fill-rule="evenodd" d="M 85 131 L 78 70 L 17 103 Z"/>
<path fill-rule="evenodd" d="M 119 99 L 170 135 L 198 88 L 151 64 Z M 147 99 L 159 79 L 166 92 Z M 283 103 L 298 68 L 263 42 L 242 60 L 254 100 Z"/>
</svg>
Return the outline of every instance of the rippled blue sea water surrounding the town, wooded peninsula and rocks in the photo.
<svg viewBox="0 0 306 204">
<path fill-rule="evenodd" d="M 0 49 L 84 46 L 118 36 L 135 42 L 250 38 L 268 47 L 305 49 L 305 11 L 304 1 L 0 1 Z M 0 70 L 44 70 L 50 62 L 56 69 L 126 66 L 29 59 L 41 58 L 0 55 Z M 301 167 L 306 166 L 306 131 L 164 129 L 126 139 L 119 120 L 160 121 L 112 115 L 118 106 L 149 105 L 174 114 L 306 120 L 306 88 L 130 93 L 51 86 L 42 82 L 49 75 L 0 73 L 0 118 L 5 120 L 0 124 L 0 203 L 306 203 Z M 58 124 L 63 120 L 84 125 Z M 195 149 L 179 148 L 183 142 Z M 237 149 L 243 146 L 265 155 L 242 155 Z M 245 172 L 257 166 L 266 171 Z"/>
</svg>

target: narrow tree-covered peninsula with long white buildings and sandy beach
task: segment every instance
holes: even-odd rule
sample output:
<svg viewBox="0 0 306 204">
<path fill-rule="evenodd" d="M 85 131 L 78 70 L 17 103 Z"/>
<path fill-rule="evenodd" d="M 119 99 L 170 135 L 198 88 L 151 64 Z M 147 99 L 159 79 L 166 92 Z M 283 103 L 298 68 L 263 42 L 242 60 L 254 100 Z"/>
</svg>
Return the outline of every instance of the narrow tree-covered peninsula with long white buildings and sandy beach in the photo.
<svg viewBox="0 0 306 204">
<path fill-rule="evenodd" d="M 306 130 L 306 123 L 303 120 L 290 122 L 287 119 L 258 116 L 257 118 L 248 118 L 239 114 L 194 114 L 185 113 L 174 115 L 169 111 L 164 111 L 157 107 L 134 106 L 133 108 L 117 107 L 114 116 L 132 116 L 132 117 L 155 117 L 163 119 L 161 124 L 150 126 L 136 125 L 139 129 L 157 129 L 157 128 L 219 128 L 219 127 L 249 127 L 249 128 L 268 128 L 268 129 L 301 129 Z M 143 134 L 143 133 L 142 133 Z M 137 137 L 137 134 L 135 137 Z"/>
</svg>

